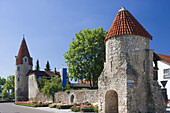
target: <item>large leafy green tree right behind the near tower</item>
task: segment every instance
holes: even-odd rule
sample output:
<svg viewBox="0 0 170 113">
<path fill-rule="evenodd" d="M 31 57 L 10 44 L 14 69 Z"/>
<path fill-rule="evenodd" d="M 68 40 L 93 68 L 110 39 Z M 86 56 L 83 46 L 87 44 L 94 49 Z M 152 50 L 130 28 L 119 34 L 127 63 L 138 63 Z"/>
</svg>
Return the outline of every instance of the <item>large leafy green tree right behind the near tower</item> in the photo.
<svg viewBox="0 0 170 113">
<path fill-rule="evenodd" d="M 76 39 L 73 39 L 69 50 L 64 54 L 71 79 L 86 79 L 90 81 L 91 87 L 95 87 L 104 67 L 104 39 L 107 33 L 108 31 L 99 27 L 81 30 L 75 34 Z"/>
</svg>

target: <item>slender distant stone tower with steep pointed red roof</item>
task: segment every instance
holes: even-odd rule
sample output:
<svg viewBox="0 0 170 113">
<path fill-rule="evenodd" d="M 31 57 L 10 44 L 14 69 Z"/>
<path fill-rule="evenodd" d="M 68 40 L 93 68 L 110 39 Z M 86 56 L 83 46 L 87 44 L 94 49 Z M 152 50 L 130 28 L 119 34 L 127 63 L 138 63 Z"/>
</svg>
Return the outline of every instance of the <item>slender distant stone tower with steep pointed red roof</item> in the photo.
<svg viewBox="0 0 170 113">
<path fill-rule="evenodd" d="M 32 58 L 30 57 L 27 44 L 23 38 L 16 56 L 15 64 L 15 101 L 28 100 L 28 78 L 27 74 L 32 70 Z"/>
</svg>

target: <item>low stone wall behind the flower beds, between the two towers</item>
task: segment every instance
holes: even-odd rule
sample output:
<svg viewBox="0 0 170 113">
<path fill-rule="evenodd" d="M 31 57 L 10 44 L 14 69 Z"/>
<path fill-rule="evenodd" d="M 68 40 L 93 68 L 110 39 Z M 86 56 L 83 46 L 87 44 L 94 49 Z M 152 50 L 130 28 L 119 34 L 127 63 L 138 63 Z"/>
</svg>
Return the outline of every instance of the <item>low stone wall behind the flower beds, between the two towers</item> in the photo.
<svg viewBox="0 0 170 113">
<path fill-rule="evenodd" d="M 36 96 L 29 98 L 30 101 L 52 101 L 52 98 L 37 93 Z M 98 102 L 98 91 L 97 90 L 77 90 L 66 92 L 55 93 L 55 103 L 97 103 Z"/>
</svg>

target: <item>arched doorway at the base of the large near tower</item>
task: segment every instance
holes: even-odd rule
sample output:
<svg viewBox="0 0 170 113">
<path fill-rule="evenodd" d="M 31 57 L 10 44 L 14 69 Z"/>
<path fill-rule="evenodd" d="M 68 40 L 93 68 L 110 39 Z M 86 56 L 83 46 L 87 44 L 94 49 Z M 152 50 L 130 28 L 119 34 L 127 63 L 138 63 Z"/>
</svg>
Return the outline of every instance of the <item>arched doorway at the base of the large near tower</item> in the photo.
<svg viewBox="0 0 170 113">
<path fill-rule="evenodd" d="M 105 113 L 118 113 L 118 94 L 114 90 L 106 92 Z"/>
</svg>

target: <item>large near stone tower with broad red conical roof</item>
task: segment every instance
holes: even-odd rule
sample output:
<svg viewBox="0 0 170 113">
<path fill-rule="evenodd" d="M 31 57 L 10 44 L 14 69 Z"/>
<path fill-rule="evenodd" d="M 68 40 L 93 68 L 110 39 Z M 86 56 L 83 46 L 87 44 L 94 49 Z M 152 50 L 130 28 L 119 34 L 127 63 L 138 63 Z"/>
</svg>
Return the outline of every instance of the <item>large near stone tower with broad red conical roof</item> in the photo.
<svg viewBox="0 0 170 113">
<path fill-rule="evenodd" d="M 98 79 L 99 113 L 165 113 L 153 79 L 152 36 L 124 7 L 106 36 L 106 63 Z"/>
</svg>

